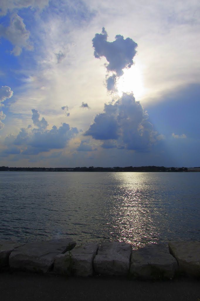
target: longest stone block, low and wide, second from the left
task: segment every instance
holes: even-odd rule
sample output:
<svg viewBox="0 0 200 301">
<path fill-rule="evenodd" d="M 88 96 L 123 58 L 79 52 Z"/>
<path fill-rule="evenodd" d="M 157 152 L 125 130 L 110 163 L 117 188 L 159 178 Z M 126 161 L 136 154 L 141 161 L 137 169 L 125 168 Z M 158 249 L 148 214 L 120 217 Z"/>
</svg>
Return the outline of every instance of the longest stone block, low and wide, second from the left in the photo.
<svg viewBox="0 0 200 301">
<path fill-rule="evenodd" d="M 52 268 L 56 255 L 71 250 L 75 245 L 70 238 L 31 242 L 11 252 L 9 265 L 13 269 L 46 273 Z"/>
</svg>

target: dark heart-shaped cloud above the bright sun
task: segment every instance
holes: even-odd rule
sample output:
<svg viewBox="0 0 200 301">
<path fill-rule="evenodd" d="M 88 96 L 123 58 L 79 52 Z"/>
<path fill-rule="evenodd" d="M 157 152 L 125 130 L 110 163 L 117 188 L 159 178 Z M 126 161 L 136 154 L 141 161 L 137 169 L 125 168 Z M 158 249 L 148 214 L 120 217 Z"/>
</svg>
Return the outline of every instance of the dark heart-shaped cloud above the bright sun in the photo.
<svg viewBox="0 0 200 301">
<path fill-rule="evenodd" d="M 108 42 L 108 34 L 105 28 L 102 33 L 96 33 L 92 39 L 94 47 L 94 56 L 100 58 L 104 56 L 108 61 L 106 68 L 108 71 L 115 72 L 117 76 L 123 75 L 124 68 L 130 68 L 133 65 L 133 57 L 136 54 L 135 48 L 138 46 L 132 39 L 123 36 L 115 36 L 114 42 Z"/>
</svg>

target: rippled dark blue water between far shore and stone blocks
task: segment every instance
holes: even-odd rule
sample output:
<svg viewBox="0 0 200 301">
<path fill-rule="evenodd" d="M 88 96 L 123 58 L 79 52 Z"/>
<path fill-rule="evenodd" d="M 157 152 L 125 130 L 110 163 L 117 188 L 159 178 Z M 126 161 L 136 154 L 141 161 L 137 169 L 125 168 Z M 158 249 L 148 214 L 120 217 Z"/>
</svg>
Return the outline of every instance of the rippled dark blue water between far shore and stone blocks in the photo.
<svg viewBox="0 0 200 301">
<path fill-rule="evenodd" d="M 200 240 L 200 173 L 0 172 L 0 239 Z"/>
</svg>

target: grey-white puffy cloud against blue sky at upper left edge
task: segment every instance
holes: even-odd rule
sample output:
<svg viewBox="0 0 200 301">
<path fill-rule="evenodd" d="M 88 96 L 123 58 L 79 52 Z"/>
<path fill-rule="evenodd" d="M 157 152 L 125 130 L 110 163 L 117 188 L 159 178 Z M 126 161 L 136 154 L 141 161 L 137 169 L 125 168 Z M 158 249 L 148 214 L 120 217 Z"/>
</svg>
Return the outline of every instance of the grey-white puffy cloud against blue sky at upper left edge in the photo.
<svg viewBox="0 0 200 301">
<path fill-rule="evenodd" d="M 26 30 L 26 26 L 23 19 L 18 14 L 13 14 L 10 19 L 10 25 L 4 27 L 0 24 L 0 37 L 3 36 L 5 39 L 10 41 L 14 48 L 11 51 L 15 56 L 21 54 L 22 49 L 32 50 L 33 47 L 29 41 L 30 32 Z"/>
</svg>

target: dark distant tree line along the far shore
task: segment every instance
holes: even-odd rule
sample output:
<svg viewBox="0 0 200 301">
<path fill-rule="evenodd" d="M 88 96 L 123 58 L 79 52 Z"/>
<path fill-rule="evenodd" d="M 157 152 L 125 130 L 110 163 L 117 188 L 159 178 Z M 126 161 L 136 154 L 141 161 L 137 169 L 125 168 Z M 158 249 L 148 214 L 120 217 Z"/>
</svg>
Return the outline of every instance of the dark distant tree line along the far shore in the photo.
<svg viewBox="0 0 200 301">
<path fill-rule="evenodd" d="M 51 172 L 187 172 L 187 167 L 164 167 L 164 166 L 126 166 L 126 167 L 8 167 L 0 166 L 0 171 L 51 171 Z"/>
</svg>

